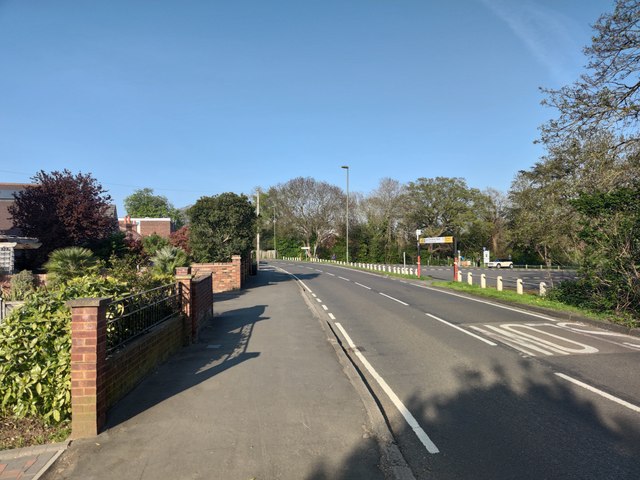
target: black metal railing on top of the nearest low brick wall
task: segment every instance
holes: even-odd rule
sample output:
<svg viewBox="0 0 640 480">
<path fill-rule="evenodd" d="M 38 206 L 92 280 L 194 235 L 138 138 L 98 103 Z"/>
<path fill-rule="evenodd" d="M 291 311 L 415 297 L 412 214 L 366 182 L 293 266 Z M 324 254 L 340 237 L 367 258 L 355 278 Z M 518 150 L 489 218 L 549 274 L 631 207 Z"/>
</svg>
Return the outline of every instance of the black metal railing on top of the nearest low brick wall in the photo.
<svg viewBox="0 0 640 480">
<path fill-rule="evenodd" d="M 114 300 L 107 307 L 107 354 L 180 311 L 180 287 L 176 284 Z"/>
</svg>

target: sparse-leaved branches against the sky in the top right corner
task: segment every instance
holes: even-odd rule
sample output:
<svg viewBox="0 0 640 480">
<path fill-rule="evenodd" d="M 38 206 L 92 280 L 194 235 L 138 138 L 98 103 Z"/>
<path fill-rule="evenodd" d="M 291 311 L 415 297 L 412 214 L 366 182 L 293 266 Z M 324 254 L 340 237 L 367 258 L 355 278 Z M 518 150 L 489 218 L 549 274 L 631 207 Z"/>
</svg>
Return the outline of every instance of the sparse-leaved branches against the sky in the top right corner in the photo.
<svg viewBox="0 0 640 480">
<path fill-rule="evenodd" d="M 559 90 L 543 89 L 543 103 L 560 113 L 542 127 L 548 145 L 600 130 L 620 134 L 617 146 L 640 140 L 640 2 L 617 0 L 613 13 L 602 15 L 593 28 L 591 45 L 584 49 L 588 73 Z"/>
</svg>

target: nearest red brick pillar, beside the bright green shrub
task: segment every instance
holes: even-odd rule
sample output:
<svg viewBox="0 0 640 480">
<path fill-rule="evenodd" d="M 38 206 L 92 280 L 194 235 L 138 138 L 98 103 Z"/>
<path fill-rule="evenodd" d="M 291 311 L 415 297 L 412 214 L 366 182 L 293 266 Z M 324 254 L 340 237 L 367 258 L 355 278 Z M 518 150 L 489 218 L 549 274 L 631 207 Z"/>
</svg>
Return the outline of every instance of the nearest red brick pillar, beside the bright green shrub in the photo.
<svg viewBox="0 0 640 480">
<path fill-rule="evenodd" d="M 105 389 L 108 298 L 70 300 L 71 436 L 94 437 L 107 417 Z"/>
</svg>

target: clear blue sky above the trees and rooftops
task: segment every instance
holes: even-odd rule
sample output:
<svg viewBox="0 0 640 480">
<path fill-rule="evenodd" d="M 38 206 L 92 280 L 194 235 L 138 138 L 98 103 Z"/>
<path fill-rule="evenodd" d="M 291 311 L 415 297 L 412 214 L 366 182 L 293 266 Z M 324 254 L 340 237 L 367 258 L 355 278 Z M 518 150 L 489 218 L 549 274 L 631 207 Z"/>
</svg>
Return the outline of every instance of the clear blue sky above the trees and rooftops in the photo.
<svg viewBox="0 0 640 480">
<path fill-rule="evenodd" d="M 613 0 L 0 0 L 0 181 L 90 172 L 118 212 L 297 176 L 507 191 Z"/>
</svg>

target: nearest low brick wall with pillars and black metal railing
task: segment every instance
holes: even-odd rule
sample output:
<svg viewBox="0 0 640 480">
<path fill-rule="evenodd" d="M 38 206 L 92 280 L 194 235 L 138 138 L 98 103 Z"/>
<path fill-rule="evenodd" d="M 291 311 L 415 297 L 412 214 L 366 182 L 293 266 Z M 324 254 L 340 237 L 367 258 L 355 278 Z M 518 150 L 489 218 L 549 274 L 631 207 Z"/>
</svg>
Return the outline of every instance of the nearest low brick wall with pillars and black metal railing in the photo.
<svg viewBox="0 0 640 480">
<path fill-rule="evenodd" d="M 189 269 L 177 283 L 117 301 L 72 300 L 71 428 L 73 438 L 100 433 L 107 409 L 158 364 L 195 341 L 213 314 L 211 275 Z"/>
</svg>

